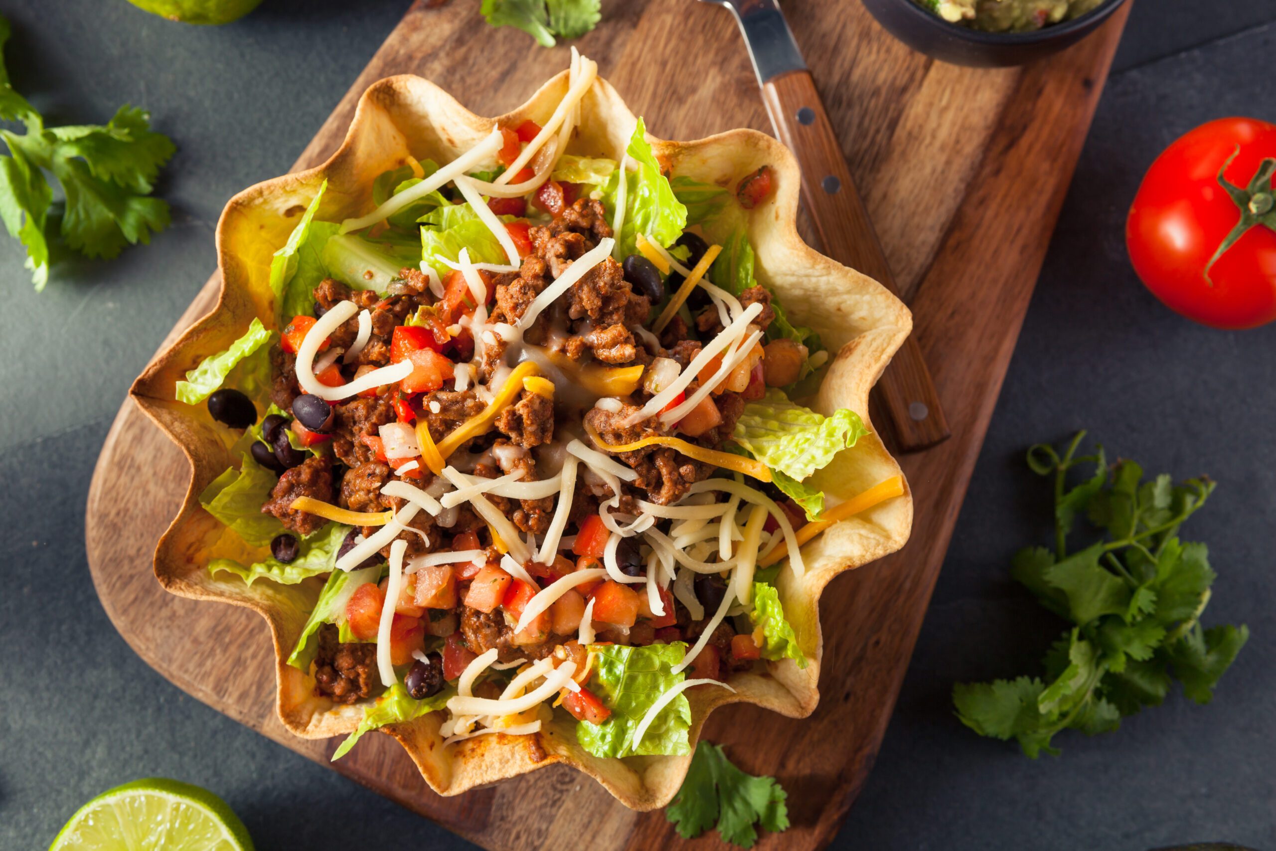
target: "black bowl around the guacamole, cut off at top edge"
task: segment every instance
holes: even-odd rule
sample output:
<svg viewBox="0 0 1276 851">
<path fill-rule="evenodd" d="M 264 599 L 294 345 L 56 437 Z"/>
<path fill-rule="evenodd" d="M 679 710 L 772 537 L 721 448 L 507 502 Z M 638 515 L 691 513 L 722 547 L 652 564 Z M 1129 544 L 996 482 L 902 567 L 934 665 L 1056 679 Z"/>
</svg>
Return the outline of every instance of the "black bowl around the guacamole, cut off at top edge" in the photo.
<svg viewBox="0 0 1276 851">
<path fill-rule="evenodd" d="M 914 0 L 864 0 L 864 6 L 887 32 L 914 50 L 954 65 L 1005 68 L 1050 54 L 1088 36 L 1125 0 L 1108 0 L 1079 18 L 1035 32 L 980 32 L 952 24 Z"/>
</svg>

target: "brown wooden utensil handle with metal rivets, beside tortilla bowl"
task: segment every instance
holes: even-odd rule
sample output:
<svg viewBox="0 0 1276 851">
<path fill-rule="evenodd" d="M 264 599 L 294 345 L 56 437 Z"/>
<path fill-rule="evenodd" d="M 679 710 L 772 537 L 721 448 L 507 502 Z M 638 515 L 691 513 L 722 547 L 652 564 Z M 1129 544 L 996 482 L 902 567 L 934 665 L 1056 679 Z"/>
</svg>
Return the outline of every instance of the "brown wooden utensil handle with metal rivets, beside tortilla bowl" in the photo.
<svg viewBox="0 0 1276 851">
<path fill-rule="evenodd" d="M 775 77 L 763 83 L 762 96 L 780 140 L 801 167 L 803 202 L 824 254 L 898 295 L 810 71 Z M 887 366 L 875 393 L 887 412 L 892 443 L 901 452 L 925 449 L 951 435 L 930 370 L 911 334 Z"/>
</svg>

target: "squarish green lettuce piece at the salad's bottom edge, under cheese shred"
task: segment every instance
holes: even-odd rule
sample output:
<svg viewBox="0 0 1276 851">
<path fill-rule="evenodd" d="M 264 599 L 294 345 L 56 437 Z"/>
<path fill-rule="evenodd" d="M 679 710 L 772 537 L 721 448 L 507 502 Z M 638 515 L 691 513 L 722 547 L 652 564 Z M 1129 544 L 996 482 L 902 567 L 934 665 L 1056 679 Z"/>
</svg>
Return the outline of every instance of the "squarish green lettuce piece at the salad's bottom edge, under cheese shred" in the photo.
<svg viewBox="0 0 1276 851">
<path fill-rule="evenodd" d="M 633 746 L 634 729 L 661 694 L 683 681 L 681 672 L 670 669 L 683 661 L 686 644 L 591 644 L 595 653 L 593 688 L 611 709 L 611 716 L 595 725 L 581 721 L 575 737 L 595 757 L 634 757 L 688 754 L 686 731 L 692 723 L 692 706 L 679 694 L 661 709 L 647 729 L 638 748 Z"/>
</svg>

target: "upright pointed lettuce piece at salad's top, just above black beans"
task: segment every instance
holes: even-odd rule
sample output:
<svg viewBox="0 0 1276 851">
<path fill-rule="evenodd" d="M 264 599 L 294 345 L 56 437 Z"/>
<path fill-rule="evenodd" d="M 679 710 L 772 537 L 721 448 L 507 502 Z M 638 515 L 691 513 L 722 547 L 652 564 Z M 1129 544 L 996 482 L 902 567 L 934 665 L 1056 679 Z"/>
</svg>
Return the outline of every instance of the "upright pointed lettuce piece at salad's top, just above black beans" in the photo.
<svg viewBox="0 0 1276 851">
<path fill-rule="evenodd" d="M 661 174 L 656 154 L 647 143 L 647 129 L 642 119 L 634 126 L 628 151 L 635 167 L 625 175 L 625 218 L 620 232 L 615 235 L 615 255 L 621 258 L 638 250 L 639 233 L 667 248 L 686 228 L 686 208 L 674 195 L 669 179 Z M 602 205 L 609 222 L 615 221 L 620 176 L 619 170 L 611 172 L 602 190 Z"/>
</svg>

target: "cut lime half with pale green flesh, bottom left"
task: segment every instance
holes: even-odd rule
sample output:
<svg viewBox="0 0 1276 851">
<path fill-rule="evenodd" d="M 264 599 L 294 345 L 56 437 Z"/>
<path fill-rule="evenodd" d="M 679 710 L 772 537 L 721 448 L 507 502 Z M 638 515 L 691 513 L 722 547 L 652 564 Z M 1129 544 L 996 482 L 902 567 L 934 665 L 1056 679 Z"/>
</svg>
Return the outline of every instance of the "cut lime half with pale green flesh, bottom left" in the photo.
<svg viewBox="0 0 1276 851">
<path fill-rule="evenodd" d="M 208 790 L 148 777 L 82 806 L 48 851 L 253 851 L 253 840 Z"/>
</svg>

